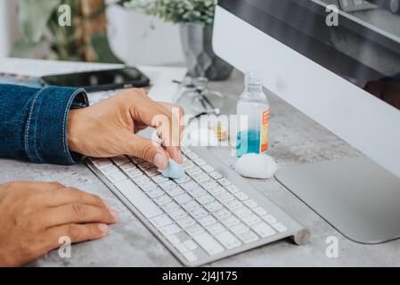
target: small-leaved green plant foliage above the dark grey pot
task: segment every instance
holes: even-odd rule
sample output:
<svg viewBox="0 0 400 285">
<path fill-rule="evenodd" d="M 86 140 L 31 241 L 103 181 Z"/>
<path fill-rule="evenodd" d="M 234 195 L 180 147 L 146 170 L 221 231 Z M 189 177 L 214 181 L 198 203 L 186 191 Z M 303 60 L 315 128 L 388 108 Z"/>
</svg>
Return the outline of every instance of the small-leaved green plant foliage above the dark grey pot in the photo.
<svg viewBox="0 0 400 285">
<path fill-rule="evenodd" d="M 125 0 L 126 8 L 173 23 L 212 25 L 217 0 Z"/>
</svg>

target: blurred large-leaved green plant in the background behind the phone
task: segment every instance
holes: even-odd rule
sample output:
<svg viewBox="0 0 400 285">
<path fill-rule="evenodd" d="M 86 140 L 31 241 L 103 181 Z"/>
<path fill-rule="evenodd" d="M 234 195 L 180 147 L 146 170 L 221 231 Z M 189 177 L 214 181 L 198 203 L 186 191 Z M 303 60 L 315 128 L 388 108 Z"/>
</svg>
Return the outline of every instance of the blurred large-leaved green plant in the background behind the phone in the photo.
<svg viewBox="0 0 400 285">
<path fill-rule="evenodd" d="M 59 25 L 58 8 L 68 4 L 71 8 L 72 25 Z M 83 26 L 105 11 L 104 4 L 90 15 L 81 11 L 80 0 L 20 0 L 19 23 L 21 37 L 12 45 L 13 57 L 34 58 L 45 51 L 46 59 L 85 61 L 88 50 L 93 61 L 121 62 L 112 53 L 104 32 L 93 33 L 83 40 Z"/>
</svg>

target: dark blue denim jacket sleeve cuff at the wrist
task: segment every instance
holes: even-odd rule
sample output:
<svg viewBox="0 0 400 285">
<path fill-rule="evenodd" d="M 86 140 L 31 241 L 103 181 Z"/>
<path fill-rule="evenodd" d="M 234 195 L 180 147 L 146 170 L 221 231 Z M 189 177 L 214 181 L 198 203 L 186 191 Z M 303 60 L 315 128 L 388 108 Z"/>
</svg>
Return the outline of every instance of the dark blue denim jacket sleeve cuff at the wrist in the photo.
<svg viewBox="0 0 400 285">
<path fill-rule="evenodd" d="M 0 156 L 71 165 L 67 124 L 70 109 L 88 106 L 83 89 L 0 85 Z"/>
</svg>

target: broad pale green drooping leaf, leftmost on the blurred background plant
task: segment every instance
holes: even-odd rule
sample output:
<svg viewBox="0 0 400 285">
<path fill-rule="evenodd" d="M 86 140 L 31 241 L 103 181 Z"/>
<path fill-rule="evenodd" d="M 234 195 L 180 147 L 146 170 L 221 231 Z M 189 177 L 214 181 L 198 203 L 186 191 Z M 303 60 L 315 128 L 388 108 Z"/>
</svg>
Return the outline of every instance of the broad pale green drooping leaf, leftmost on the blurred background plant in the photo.
<svg viewBox="0 0 400 285">
<path fill-rule="evenodd" d="M 45 33 L 48 20 L 61 0 L 20 0 L 20 30 L 30 42 L 38 43 Z"/>
</svg>

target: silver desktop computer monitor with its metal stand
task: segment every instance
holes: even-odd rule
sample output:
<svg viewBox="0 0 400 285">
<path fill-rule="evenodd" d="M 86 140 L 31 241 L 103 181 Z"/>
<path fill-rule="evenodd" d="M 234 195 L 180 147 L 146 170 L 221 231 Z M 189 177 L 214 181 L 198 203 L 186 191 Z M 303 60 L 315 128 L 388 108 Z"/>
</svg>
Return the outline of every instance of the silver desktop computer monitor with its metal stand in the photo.
<svg viewBox="0 0 400 285">
<path fill-rule="evenodd" d="M 363 152 L 276 175 L 363 243 L 400 237 L 400 15 L 382 3 L 219 0 L 213 37 L 225 61 L 263 72 L 273 94 Z"/>
</svg>

